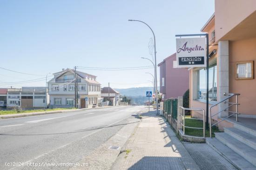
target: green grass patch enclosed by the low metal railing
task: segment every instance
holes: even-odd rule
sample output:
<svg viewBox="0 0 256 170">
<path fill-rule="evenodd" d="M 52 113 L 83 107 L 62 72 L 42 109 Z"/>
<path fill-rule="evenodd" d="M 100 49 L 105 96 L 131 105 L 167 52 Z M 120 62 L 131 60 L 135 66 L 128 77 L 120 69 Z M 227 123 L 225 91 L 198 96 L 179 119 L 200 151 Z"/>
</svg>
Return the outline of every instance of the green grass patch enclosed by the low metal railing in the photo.
<svg viewBox="0 0 256 170">
<path fill-rule="evenodd" d="M 190 118 L 190 116 L 185 116 L 185 126 L 190 127 L 203 127 L 202 120 L 193 120 L 193 119 L 186 119 Z M 214 132 L 220 132 L 218 127 L 212 127 L 212 137 L 215 137 Z M 202 129 L 192 129 L 192 128 L 185 128 L 185 134 L 190 136 L 198 136 L 203 137 L 203 130 Z M 210 131 L 205 130 L 205 137 L 210 137 Z"/>
</svg>

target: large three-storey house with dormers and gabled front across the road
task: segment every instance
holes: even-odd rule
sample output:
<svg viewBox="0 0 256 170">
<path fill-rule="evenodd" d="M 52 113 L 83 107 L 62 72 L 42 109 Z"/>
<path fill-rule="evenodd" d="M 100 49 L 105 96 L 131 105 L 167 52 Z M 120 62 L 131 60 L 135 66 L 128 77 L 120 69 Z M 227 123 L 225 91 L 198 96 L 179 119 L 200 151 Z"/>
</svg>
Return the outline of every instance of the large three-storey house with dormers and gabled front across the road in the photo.
<svg viewBox="0 0 256 170">
<path fill-rule="evenodd" d="M 93 107 L 101 99 L 101 84 L 96 76 L 81 71 L 77 73 L 78 108 Z M 54 73 L 48 82 L 50 107 L 75 107 L 75 72 L 74 69 L 62 69 Z"/>
</svg>

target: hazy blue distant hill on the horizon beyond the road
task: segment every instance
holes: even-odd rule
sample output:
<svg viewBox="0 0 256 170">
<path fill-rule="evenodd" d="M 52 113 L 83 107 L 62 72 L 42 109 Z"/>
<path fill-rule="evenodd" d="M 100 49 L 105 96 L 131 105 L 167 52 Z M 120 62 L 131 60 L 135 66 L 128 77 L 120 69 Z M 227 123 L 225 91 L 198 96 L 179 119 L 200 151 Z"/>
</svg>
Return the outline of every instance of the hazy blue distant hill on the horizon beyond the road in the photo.
<svg viewBox="0 0 256 170">
<path fill-rule="evenodd" d="M 141 88 L 115 88 L 122 95 L 126 96 L 145 96 L 146 91 L 153 91 L 153 87 L 141 87 Z"/>
</svg>

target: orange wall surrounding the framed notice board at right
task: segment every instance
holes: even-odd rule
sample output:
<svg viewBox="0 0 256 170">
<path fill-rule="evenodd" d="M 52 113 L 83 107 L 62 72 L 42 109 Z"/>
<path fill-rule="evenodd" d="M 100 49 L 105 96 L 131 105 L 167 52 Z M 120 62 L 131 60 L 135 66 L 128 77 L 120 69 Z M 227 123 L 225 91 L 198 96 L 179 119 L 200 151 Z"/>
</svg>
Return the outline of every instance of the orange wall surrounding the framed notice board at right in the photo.
<svg viewBox="0 0 256 170">
<path fill-rule="evenodd" d="M 256 37 L 229 41 L 229 92 L 240 93 L 239 113 L 256 115 L 256 79 L 236 80 L 236 62 L 256 61 Z M 254 75 L 256 75 L 254 68 Z M 254 76 L 255 77 L 255 76 Z"/>
</svg>

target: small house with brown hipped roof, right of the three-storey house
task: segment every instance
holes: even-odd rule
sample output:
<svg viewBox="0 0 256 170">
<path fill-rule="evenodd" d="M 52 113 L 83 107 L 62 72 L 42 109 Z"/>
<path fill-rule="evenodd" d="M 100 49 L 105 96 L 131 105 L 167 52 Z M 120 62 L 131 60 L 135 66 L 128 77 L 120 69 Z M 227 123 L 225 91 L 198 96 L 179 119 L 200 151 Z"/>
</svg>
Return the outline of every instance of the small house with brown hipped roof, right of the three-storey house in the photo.
<svg viewBox="0 0 256 170">
<path fill-rule="evenodd" d="M 118 91 L 110 87 L 104 87 L 101 89 L 101 97 L 104 101 L 110 101 L 112 106 L 119 106 L 120 94 Z"/>
</svg>

